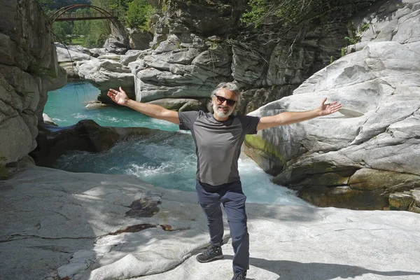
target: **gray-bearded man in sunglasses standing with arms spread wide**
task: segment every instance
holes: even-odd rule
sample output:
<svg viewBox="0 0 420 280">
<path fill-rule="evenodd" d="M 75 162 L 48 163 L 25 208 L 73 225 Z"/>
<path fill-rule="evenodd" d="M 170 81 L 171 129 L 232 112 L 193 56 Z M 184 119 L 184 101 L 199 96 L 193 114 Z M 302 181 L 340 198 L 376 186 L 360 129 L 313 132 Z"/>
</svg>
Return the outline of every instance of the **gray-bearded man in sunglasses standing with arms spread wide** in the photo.
<svg viewBox="0 0 420 280">
<path fill-rule="evenodd" d="M 232 280 L 245 279 L 249 261 L 249 235 L 246 228 L 246 196 L 242 192 L 238 172 L 238 159 L 246 134 L 279 125 L 289 125 L 326 116 L 337 112 L 341 104 L 332 102 L 312 111 L 283 112 L 276 116 L 253 117 L 237 115 L 241 94 L 234 83 L 221 83 L 211 93 L 209 111 L 176 112 L 161 106 L 136 102 L 127 97 L 121 89 L 108 92 L 113 102 L 130 107 L 153 118 L 167 120 L 179 125 L 181 130 L 191 130 L 197 153 L 198 200 L 210 234 L 210 246 L 206 252 L 197 255 L 199 262 L 223 258 L 223 220 L 221 203 L 228 216 L 233 257 Z"/>
</svg>

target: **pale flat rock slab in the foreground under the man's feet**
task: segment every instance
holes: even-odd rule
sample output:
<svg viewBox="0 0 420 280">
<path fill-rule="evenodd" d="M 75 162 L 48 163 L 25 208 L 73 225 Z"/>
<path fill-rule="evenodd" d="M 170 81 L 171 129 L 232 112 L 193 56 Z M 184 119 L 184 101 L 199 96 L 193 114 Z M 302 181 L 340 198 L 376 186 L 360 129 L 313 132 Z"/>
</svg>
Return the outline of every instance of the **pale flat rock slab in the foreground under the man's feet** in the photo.
<svg viewBox="0 0 420 280">
<path fill-rule="evenodd" d="M 247 204 L 248 279 L 420 276 L 420 216 Z M 0 181 L 1 279 L 230 279 L 195 260 L 209 241 L 195 193 L 135 176 L 26 167 Z M 148 275 L 148 276 L 146 276 Z M 140 277 L 141 276 L 141 277 Z"/>
</svg>

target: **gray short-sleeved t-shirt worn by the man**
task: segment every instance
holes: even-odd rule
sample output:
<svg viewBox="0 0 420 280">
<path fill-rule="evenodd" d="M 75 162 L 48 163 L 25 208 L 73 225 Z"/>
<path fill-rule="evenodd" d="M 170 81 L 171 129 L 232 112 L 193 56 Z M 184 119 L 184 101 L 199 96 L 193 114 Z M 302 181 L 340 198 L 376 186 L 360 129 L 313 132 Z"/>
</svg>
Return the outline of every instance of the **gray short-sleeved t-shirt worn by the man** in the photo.
<svg viewBox="0 0 420 280">
<path fill-rule="evenodd" d="M 179 112 L 179 129 L 191 130 L 197 153 L 197 180 L 211 186 L 239 181 L 238 159 L 246 134 L 256 134 L 260 118 L 230 116 L 219 121 L 203 111 Z"/>
</svg>

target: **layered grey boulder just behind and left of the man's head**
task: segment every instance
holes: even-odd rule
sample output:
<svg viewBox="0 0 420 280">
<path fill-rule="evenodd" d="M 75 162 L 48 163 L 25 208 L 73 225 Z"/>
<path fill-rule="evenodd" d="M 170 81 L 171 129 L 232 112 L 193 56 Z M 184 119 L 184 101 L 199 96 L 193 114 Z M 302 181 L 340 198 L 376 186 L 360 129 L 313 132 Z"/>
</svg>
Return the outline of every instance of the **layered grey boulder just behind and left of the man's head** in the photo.
<svg viewBox="0 0 420 280">
<path fill-rule="evenodd" d="M 222 81 L 232 80 L 232 56 L 218 38 L 182 43 L 169 36 L 155 50 L 142 52 L 130 63 L 135 76 L 136 99 L 205 98 Z"/>
</svg>

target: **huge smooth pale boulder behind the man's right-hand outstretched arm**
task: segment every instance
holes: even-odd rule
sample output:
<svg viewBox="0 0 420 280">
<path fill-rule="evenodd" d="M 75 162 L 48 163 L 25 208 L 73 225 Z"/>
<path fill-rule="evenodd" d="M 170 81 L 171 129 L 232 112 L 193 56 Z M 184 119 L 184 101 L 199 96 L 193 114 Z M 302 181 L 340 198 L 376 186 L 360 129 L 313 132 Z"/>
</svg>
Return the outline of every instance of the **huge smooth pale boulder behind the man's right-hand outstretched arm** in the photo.
<svg viewBox="0 0 420 280">
<path fill-rule="evenodd" d="M 314 109 L 322 97 L 343 104 L 335 115 L 258 133 L 263 147 L 276 147 L 274 181 L 298 186 L 315 204 L 355 209 L 383 209 L 389 193 L 419 187 L 419 64 L 412 46 L 369 43 L 318 71 L 293 96 L 251 113 Z"/>
</svg>

